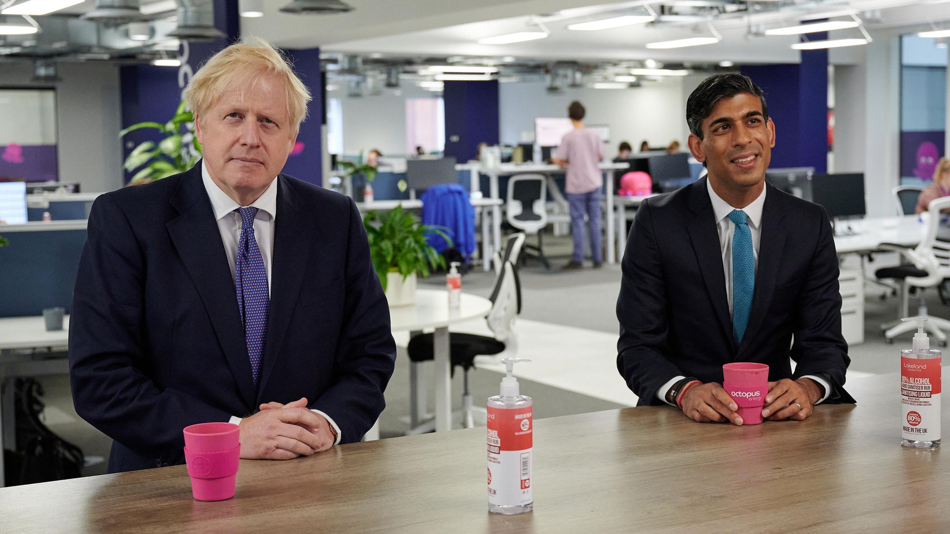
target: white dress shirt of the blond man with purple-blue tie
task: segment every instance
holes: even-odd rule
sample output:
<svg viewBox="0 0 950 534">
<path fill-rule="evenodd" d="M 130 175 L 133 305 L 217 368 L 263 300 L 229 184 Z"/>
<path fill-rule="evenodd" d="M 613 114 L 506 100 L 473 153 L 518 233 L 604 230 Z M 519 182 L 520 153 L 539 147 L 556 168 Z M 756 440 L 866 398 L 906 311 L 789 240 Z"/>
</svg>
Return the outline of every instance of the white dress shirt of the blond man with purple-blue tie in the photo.
<svg viewBox="0 0 950 534">
<path fill-rule="evenodd" d="M 241 206 L 222 191 L 218 184 L 211 180 L 211 175 L 208 174 L 208 168 L 203 160 L 201 161 L 201 181 L 204 182 L 204 190 L 208 192 L 211 209 L 215 213 L 215 220 L 218 221 L 218 232 L 221 233 L 221 242 L 224 244 L 224 254 L 228 257 L 232 279 L 235 278 L 237 272 L 235 267 L 237 241 L 240 239 L 240 228 L 243 222 L 240 212 L 237 210 L 241 207 L 257 208 L 257 215 L 254 218 L 254 238 L 257 240 L 257 248 L 260 249 L 260 257 L 264 260 L 264 270 L 267 271 L 267 291 L 270 294 L 271 287 L 273 287 L 271 284 L 271 263 L 274 258 L 274 220 L 277 217 L 276 177 L 271 181 L 271 185 L 267 190 L 250 206 Z M 235 298 L 237 299 L 237 294 Z M 333 445 L 340 443 L 343 434 L 340 432 L 340 428 L 336 426 L 333 418 L 320 410 L 313 411 L 325 417 L 333 430 L 336 431 L 336 441 L 333 442 Z M 239 425 L 240 417 L 232 416 L 229 422 Z"/>
</svg>

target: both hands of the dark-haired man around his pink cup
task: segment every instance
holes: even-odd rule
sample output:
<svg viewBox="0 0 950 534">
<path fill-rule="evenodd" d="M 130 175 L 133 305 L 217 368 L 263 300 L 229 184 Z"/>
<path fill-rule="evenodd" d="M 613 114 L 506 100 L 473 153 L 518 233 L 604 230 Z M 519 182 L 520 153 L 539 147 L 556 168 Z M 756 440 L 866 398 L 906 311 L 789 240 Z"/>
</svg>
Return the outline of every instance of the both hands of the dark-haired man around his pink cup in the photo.
<svg viewBox="0 0 950 534">
<path fill-rule="evenodd" d="M 814 411 L 815 403 L 821 398 L 821 389 L 810 378 L 783 378 L 777 382 L 769 382 L 769 393 L 766 395 L 762 416 L 769 421 L 804 421 Z M 680 406 L 687 417 L 700 423 L 743 423 L 742 417 L 735 412 L 738 410 L 735 401 L 715 382 L 700 384 L 683 391 Z"/>
</svg>

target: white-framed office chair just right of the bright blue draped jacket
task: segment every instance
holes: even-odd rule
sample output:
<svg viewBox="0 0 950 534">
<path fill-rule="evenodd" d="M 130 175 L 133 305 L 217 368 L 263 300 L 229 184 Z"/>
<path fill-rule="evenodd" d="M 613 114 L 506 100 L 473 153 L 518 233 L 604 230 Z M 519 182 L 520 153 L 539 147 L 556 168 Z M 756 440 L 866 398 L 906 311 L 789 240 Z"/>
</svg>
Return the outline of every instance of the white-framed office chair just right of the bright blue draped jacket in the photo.
<svg viewBox="0 0 950 534">
<path fill-rule="evenodd" d="M 525 257 L 536 257 L 544 268 L 551 263 L 544 257 L 542 230 L 547 225 L 547 178 L 542 174 L 519 174 L 508 180 L 504 219 L 527 235 L 538 235 L 538 246 L 524 244 Z"/>
</svg>

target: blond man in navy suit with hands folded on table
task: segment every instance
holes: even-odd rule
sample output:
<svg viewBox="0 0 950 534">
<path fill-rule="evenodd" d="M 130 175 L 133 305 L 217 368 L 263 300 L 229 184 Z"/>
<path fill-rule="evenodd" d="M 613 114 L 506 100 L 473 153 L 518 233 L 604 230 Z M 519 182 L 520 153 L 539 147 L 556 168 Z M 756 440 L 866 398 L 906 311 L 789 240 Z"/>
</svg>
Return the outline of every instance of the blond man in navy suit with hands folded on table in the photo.
<svg viewBox="0 0 950 534">
<path fill-rule="evenodd" d="M 185 98 L 204 158 L 92 207 L 69 325 L 77 412 L 114 440 L 110 472 L 183 464 L 195 423 L 239 424 L 242 458 L 359 441 L 395 345 L 352 200 L 279 174 L 307 88 L 251 38 Z"/>
</svg>

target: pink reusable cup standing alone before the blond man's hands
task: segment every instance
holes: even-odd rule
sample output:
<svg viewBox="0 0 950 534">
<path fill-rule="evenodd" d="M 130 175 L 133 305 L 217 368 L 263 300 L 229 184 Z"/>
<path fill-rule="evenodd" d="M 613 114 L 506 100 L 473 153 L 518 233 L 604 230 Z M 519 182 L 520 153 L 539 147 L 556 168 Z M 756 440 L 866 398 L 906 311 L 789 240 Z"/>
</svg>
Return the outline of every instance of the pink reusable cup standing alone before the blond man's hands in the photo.
<svg viewBox="0 0 950 534">
<path fill-rule="evenodd" d="M 240 427 L 231 423 L 200 423 L 184 428 L 184 460 L 195 499 L 223 501 L 235 496 L 239 437 Z"/>
</svg>

